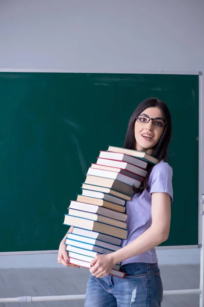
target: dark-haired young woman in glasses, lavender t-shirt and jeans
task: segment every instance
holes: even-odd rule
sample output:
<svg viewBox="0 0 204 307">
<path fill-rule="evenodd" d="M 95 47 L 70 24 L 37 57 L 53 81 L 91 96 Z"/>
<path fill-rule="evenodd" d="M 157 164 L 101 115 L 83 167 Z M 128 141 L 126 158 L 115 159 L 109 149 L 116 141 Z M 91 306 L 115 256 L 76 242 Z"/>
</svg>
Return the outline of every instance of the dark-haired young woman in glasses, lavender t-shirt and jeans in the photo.
<svg viewBox="0 0 204 307">
<path fill-rule="evenodd" d="M 92 260 L 85 307 L 161 306 L 163 287 L 155 247 L 168 238 L 170 228 L 172 168 L 164 162 L 170 138 L 166 104 L 157 98 L 141 102 L 130 119 L 124 148 L 145 151 L 160 162 L 148 169 L 142 186 L 125 204 L 128 236 L 122 248 Z M 58 262 L 73 266 L 66 263 L 65 238 Z M 109 275 L 118 262 L 125 278 Z"/>
</svg>

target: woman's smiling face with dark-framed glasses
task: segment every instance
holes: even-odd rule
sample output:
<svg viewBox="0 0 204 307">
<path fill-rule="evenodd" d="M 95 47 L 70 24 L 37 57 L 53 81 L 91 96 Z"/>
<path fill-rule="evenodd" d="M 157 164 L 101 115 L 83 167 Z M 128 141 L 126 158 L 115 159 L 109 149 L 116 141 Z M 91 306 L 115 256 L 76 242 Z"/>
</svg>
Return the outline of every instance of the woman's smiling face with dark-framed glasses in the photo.
<svg viewBox="0 0 204 307">
<path fill-rule="evenodd" d="M 152 120 L 159 125 L 154 125 Z M 148 107 L 139 116 L 138 120 L 135 121 L 135 140 L 136 150 L 145 151 L 151 155 L 153 147 L 159 142 L 164 128 L 161 125 L 165 122 L 163 113 L 159 107 Z"/>
</svg>

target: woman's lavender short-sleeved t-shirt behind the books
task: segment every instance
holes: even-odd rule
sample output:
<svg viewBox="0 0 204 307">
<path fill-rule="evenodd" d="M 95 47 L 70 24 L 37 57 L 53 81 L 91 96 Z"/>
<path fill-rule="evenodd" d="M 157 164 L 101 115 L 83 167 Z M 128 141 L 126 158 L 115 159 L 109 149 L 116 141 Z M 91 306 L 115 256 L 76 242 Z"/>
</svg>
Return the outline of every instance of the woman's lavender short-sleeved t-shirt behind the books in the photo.
<svg viewBox="0 0 204 307">
<path fill-rule="evenodd" d="M 135 193 L 131 201 L 126 201 L 127 216 L 127 239 L 122 241 L 122 247 L 131 243 L 139 235 L 151 226 L 151 193 L 165 192 L 173 200 L 172 189 L 172 168 L 163 160 L 152 168 L 149 176 L 149 192 L 144 190 L 140 196 Z M 139 254 L 137 256 L 125 259 L 121 265 L 131 262 L 157 262 L 157 254 L 155 248 Z"/>
</svg>

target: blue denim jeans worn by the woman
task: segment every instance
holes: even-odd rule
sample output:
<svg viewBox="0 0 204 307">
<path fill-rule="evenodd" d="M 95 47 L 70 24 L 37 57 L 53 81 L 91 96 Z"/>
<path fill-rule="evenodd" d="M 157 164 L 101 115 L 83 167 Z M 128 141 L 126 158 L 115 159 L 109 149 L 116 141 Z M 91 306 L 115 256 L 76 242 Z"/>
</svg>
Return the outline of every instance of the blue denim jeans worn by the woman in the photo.
<svg viewBox="0 0 204 307">
<path fill-rule="evenodd" d="M 85 307 L 159 307 L 163 286 L 157 264 L 123 265 L 125 278 L 91 274 L 87 284 Z"/>
</svg>

